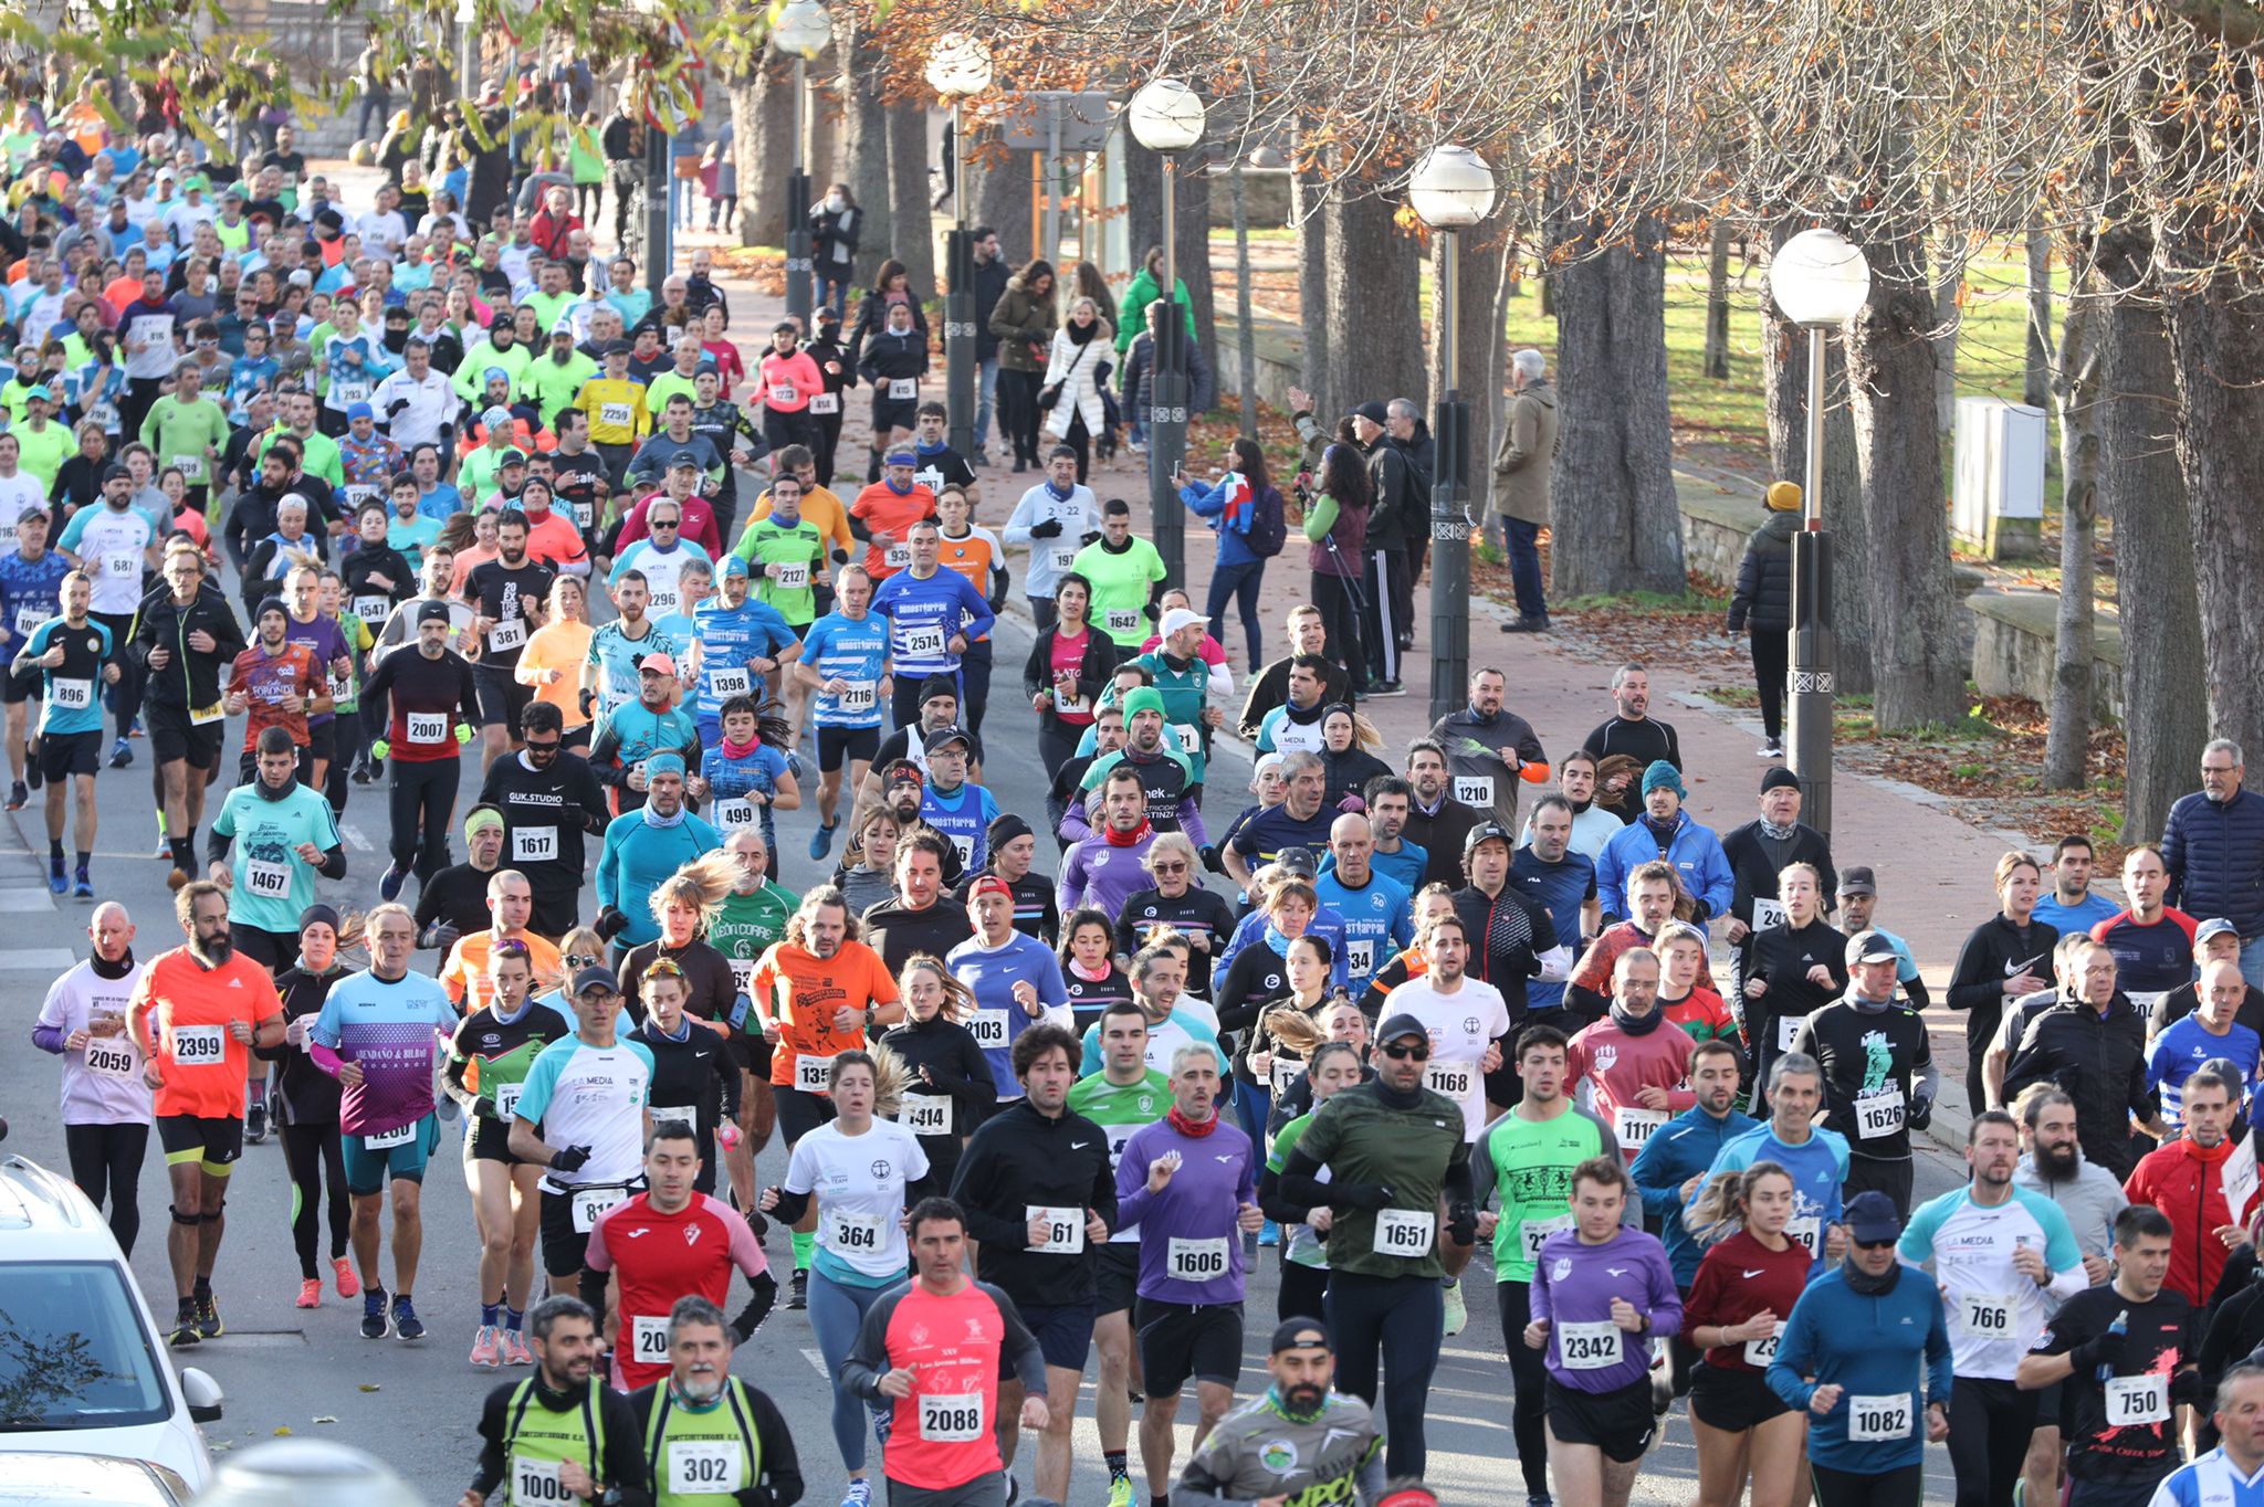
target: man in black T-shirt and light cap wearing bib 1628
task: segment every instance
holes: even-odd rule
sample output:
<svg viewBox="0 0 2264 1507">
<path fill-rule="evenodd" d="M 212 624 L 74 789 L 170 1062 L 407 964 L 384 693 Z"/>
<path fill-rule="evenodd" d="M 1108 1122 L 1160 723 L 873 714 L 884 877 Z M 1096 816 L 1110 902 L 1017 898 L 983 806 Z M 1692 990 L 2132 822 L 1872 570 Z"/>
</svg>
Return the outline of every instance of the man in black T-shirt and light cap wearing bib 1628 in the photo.
<svg viewBox="0 0 2264 1507">
<path fill-rule="evenodd" d="M 1933 1118 L 1943 1073 L 1918 1011 L 1895 998 L 1902 955 L 1879 932 L 1847 939 L 1847 993 L 1800 1023 L 1793 1050 L 1825 1073 L 1825 1118 L 1847 1138 L 1845 1197 L 1877 1188 L 1911 1206 L 1911 1131 Z"/>
</svg>

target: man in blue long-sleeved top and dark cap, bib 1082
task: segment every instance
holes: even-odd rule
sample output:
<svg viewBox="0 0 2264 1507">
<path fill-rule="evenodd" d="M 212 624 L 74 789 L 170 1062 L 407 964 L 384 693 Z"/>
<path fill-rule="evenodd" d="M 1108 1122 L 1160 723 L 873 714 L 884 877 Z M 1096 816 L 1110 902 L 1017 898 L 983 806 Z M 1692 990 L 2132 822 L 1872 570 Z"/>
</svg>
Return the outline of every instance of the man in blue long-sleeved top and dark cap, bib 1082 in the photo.
<svg viewBox="0 0 2264 1507">
<path fill-rule="evenodd" d="M 1809 1283 L 1777 1326 L 1768 1389 L 1809 1414 L 1818 1507 L 1918 1507 L 1927 1446 L 1952 1435 L 1952 1380 L 1965 1383 L 1952 1373 L 1943 1294 L 1895 1258 L 1897 1238 L 1895 1202 L 1859 1192 L 1847 1202 L 1847 1260 Z M 1999 1448 L 2017 1462 L 2026 1446 L 2022 1430 Z M 1995 1500 L 2013 1500 L 2010 1487 Z"/>
</svg>

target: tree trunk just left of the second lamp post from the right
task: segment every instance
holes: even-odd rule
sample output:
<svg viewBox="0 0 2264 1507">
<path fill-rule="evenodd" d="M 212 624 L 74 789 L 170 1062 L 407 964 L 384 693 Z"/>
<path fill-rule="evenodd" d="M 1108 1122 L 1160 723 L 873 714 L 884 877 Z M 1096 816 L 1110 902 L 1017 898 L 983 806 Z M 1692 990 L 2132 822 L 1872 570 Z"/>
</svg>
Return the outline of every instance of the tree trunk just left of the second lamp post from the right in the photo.
<svg viewBox="0 0 2264 1507">
<path fill-rule="evenodd" d="M 1329 222 L 1329 396 L 1324 419 L 1370 398 L 1422 401 L 1422 249 L 1392 219 L 1395 204 L 1372 192 L 1331 195 Z"/>
</svg>

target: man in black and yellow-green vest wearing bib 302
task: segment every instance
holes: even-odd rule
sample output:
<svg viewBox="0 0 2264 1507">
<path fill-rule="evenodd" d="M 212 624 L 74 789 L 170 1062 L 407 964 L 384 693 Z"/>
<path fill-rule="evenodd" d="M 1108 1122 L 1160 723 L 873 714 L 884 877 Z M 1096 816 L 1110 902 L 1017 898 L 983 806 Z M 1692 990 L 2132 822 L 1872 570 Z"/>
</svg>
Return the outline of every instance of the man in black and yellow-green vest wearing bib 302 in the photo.
<svg viewBox="0 0 2264 1507">
<path fill-rule="evenodd" d="M 731 1376 L 736 1324 L 704 1297 L 668 1310 L 668 1373 L 629 1394 L 657 1507 L 729 1498 L 763 1507 L 801 1500 L 801 1462 L 786 1419 L 763 1392 Z"/>
</svg>

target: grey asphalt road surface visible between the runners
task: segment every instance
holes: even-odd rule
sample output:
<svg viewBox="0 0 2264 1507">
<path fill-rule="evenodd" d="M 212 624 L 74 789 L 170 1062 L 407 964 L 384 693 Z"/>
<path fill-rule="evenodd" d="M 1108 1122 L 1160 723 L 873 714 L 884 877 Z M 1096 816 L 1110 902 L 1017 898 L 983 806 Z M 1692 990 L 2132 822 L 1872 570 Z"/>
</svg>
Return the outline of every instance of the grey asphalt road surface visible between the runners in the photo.
<svg viewBox="0 0 2264 1507">
<path fill-rule="evenodd" d="M 1019 665 L 1028 643 L 1023 618 L 1001 625 L 996 695 L 987 724 L 987 776 L 1001 808 L 1039 812 L 1044 774 L 1032 724 L 1017 699 Z M 231 729 L 231 738 L 233 749 L 240 729 Z M 125 903 L 140 923 L 136 948 L 143 957 L 179 944 L 172 898 L 163 882 L 165 864 L 152 858 L 156 821 L 149 806 L 147 758 L 147 744 L 136 742 L 136 763 L 129 769 L 104 769 L 100 776 L 102 830 L 93 869 L 97 894 Z M 471 763 L 466 758 L 466 765 Z M 1238 749 L 1223 747 L 1214 769 L 1218 778 L 1207 792 L 1204 817 L 1211 830 L 1218 830 L 1238 808 L 1250 767 Z M 466 783 L 473 778 L 466 772 Z M 213 806 L 217 808 L 217 799 Z M 790 889 L 813 880 L 813 864 L 804 853 L 813 824 L 811 808 L 779 817 L 781 878 Z M 340 905 L 367 907 L 376 898 L 378 873 L 385 867 L 383 787 L 353 787 L 344 833 L 349 878 L 335 885 L 324 880 L 324 892 Z M 43 853 L 38 806 L 7 815 L 0 824 L 0 914 L 9 916 L 11 925 L 0 935 L 0 991 L 9 1000 L 9 1034 L 20 1045 L 0 1052 L 0 1113 L 14 1127 L 9 1152 L 61 1170 L 66 1159 L 54 1113 L 54 1059 L 29 1050 L 27 1036 L 48 982 L 86 955 L 86 916 L 93 903 L 50 898 Z M 432 955 L 419 957 L 419 966 L 432 968 L 437 962 Z M 233 1179 L 229 1240 L 215 1281 L 229 1333 L 192 1353 L 192 1364 L 211 1371 L 226 1389 L 226 1416 L 208 1430 L 215 1450 L 242 1448 L 272 1435 L 335 1437 L 392 1464 L 428 1502 L 444 1505 L 457 1498 L 478 1453 L 473 1426 L 480 1401 L 496 1383 L 494 1373 L 473 1371 L 464 1362 L 478 1324 L 478 1247 L 464 1181 L 455 1172 L 460 1127 L 462 1122 L 448 1127 L 426 1183 L 426 1247 L 417 1306 L 432 1333 L 417 1346 L 362 1340 L 355 1331 L 358 1299 L 340 1301 L 331 1292 L 315 1312 L 292 1308 L 299 1272 L 290 1245 L 292 1192 L 281 1147 L 274 1140 L 247 1147 Z M 772 1143 L 758 1172 L 765 1183 L 783 1177 L 783 1147 Z M 1936 1149 L 1920 1154 L 1918 1197 L 1931 1197 L 1956 1181 L 1963 1181 L 1963 1168 L 1954 1159 Z M 143 1238 L 134 1267 L 145 1292 L 156 1294 L 154 1308 L 163 1312 L 170 1310 L 165 1294 L 172 1288 L 163 1245 L 165 1181 L 154 1152 L 143 1170 L 140 1199 Z M 772 1263 L 788 1265 L 781 1233 L 772 1233 L 770 1256 Z M 1252 1276 L 1245 1389 L 1257 1389 L 1263 1378 L 1263 1335 L 1275 1312 L 1272 1272 L 1272 1254 L 1266 1254 Z M 1501 1502 L 1517 1487 L 1517 1478 L 1506 1475 L 1515 1457 L 1508 1428 L 1510 1380 L 1490 1276 L 1481 1256 L 1465 1283 L 1469 1328 L 1444 1344 L 1431 1392 L 1431 1484 L 1447 1502 Z M 774 1312 L 754 1342 L 738 1351 L 736 1371 L 770 1392 L 783 1410 L 811 1482 L 806 1500 L 835 1502 L 844 1473 L 826 1428 L 829 1380 L 806 1315 L 783 1308 Z M 1191 1412 L 1189 1405 L 1182 1416 Z M 1189 1428 L 1182 1423 L 1182 1457 L 1189 1439 Z M 1078 1507 L 1098 1507 L 1107 1478 L 1091 1423 L 1091 1371 L 1078 1410 L 1075 1457 L 1071 1500 Z M 1030 1464 L 1026 1450 L 1021 1462 L 1026 1487 Z M 1929 1496 L 1947 1500 L 1947 1455 L 1940 1448 L 1931 1450 L 1929 1466 L 1933 1475 Z M 1134 1475 L 1137 1469 L 1134 1455 Z M 1689 1502 L 1693 1473 L 1689 1428 L 1678 1405 L 1664 1444 L 1637 1484 L 1637 1500 Z"/>
</svg>

